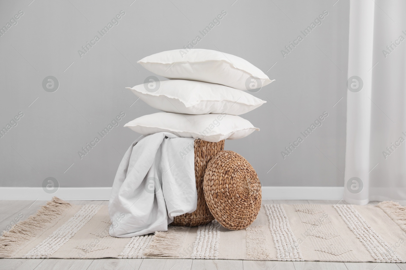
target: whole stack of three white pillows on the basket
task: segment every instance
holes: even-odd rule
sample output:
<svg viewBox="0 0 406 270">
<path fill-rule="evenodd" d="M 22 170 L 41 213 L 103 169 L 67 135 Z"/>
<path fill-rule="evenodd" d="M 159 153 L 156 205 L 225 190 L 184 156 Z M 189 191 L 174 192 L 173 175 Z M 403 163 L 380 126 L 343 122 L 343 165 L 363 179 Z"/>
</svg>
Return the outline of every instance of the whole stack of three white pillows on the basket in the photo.
<svg viewBox="0 0 406 270">
<path fill-rule="evenodd" d="M 138 117 L 124 126 L 143 135 L 170 132 L 209 142 L 248 136 L 255 128 L 239 117 L 266 101 L 243 90 L 272 82 L 248 61 L 219 51 L 164 51 L 138 61 L 170 80 L 147 82 L 131 89 L 141 100 L 164 113 Z"/>
</svg>

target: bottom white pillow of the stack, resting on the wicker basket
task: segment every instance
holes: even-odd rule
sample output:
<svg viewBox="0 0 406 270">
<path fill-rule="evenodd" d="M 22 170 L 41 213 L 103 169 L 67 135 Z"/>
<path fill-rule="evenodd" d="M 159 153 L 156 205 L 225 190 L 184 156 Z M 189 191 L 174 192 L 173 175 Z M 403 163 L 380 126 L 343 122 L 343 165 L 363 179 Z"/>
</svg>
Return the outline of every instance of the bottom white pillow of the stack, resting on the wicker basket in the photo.
<svg viewBox="0 0 406 270">
<path fill-rule="evenodd" d="M 201 139 L 208 142 L 240 139 L 255 130 L 259 130 L 250 121 L 237 115 L 227 114 L 153 113 L 138 117 L 124 126 L 143 135 L 171 132 L 179 137 Z"/>
</svg>

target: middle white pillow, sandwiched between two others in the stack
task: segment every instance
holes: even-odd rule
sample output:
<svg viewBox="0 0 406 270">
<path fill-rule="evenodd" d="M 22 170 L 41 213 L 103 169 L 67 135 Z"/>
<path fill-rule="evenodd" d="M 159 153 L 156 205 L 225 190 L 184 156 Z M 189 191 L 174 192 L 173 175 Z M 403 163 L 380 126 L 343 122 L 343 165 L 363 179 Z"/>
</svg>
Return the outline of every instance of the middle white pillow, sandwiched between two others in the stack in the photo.
<svg viewBox="0 0 406 270">
<path fill-rule="evenodd" d="M 244 91 L 201 81 L 166 80 L 127 89 L 149 106 L 168 113 L 242 115 L 266 102 Z"/>
</svg>

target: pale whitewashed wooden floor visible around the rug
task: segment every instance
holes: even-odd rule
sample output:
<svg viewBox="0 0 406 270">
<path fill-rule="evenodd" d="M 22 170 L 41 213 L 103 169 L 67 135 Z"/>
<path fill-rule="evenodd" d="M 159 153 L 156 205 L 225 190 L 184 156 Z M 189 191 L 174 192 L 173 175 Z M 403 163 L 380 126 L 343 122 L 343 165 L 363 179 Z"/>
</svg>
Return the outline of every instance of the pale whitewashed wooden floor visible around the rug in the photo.
<svg viewBox="0 0 406 270">
<path fill-rule="evenodd" d="M 70 201 L 73 204 L 108 204 L 108 201 Z M 263 200 L 263 204 L 342 204 L 338 201 Z M 371 202 L 376 204 L 377 202 Z M 0 201 L 0 230 L 24 215 L 35 214 L 45 201 Z M 0 259 L 0 270 L 406 270 L 406 264 L 342 263 L 320 261 L 238 261 L 207 259 Z"/>
</svg>

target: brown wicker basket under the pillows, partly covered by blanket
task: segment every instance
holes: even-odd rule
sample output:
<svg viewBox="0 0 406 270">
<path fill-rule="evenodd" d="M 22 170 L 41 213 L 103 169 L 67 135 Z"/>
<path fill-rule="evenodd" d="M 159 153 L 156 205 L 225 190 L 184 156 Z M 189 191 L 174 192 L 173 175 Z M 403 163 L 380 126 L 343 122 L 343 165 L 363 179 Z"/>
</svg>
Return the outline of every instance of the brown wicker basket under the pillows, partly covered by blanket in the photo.
<svg viewBox="0 0 406 270">
<path fill-rule="evenodd" d="M 222 150 L 224 150 L 224 140 L 220 142 L 194 140 L 194 174 L 197 188 L 197 208 L 193 213 L 186 213 L 174 217 L 173 222 L 169 225 L 193 227 L 207 224 L 214 220 L 214 217 L 207 207 L 203 193 L 203 179 L 210 159 Z"/>
</svg>

